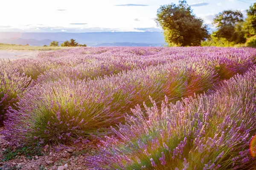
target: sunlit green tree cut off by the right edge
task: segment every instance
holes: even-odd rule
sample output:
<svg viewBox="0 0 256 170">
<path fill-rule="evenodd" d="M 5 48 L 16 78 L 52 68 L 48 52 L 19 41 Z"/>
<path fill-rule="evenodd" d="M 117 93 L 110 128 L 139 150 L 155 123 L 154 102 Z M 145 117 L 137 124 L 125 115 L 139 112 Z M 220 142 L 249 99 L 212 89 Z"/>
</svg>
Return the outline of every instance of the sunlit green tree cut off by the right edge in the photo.
<svg viewBox="0 0 256 170">
<path fill-rule="evenodd" d="M 243 29 L 246 31 L 246 37 L 256 35 L 256 3 L 250 6 L 247 11 L 247 18 L 243 24 Z"/>
</svg>

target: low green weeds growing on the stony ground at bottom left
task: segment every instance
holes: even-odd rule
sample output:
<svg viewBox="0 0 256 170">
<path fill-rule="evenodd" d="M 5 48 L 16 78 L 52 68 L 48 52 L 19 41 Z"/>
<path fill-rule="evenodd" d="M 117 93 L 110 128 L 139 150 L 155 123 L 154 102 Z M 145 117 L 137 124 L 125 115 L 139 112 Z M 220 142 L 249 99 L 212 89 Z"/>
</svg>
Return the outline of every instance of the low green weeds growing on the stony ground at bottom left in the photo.
<svg viewBox="0 0 256 170">
<path fill-rule="evenodd" d="M 22 147 L 12 150 L 10 147 L 3 151 L 3 159 L 1 161 L 9 161 L 15 159 L 16 156 L 26 156 L 27 159 L 32 159 L 33 156 L 42 156 L 40 145 L 36 147 Z"/>
</svg>

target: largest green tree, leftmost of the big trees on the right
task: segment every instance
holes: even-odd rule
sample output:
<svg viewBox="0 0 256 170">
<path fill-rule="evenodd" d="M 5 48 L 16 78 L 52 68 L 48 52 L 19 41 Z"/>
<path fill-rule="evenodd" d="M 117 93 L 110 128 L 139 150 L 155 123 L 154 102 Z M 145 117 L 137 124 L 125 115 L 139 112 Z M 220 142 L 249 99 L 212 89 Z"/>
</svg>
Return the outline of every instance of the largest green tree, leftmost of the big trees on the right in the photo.
<svg viewBox="0 0 256 170">
<path fill-rule="evenodd" d="M 160 6 L 156 23 L 163 28 L 168 46 L 197 46 L 208 37 L 207 26 L 192 13 L 186 0 Z"/>
</svg>

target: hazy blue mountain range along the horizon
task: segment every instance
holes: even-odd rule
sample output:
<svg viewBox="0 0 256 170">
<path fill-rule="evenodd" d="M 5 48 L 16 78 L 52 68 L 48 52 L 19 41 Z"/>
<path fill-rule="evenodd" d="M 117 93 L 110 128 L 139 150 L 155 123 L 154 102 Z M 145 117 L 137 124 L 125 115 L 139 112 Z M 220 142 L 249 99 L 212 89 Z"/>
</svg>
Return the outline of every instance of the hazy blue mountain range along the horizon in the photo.
<svg viewBox="0 0 256 170">
<path fill-rule="evenodd" d="M 21 45 L 49 45 L 52 41 L 59 44 L 71 38 L 87 46 L 162 46 L 161 32 L 90 32 L 90 33 L 34 33 L 0 32 L 0 43 Z"/>
</svg>

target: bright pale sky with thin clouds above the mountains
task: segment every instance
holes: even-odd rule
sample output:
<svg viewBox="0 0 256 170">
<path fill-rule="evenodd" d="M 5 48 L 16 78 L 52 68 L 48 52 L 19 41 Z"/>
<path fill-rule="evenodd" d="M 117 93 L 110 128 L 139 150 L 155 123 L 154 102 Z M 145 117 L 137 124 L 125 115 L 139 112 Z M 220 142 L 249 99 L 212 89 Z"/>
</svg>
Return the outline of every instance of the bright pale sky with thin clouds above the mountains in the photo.
<svg viewBox="0 0 256 170">
<path fill-rule="evenodd" d="M 215 14 L 246 9 L 256 0 L 187 0 L 212 28 Z M 1 0 L 0 31 L 102 32 L 161 31 L 154 19 L 161 5 L 178 0 Z"/>
</svg>

